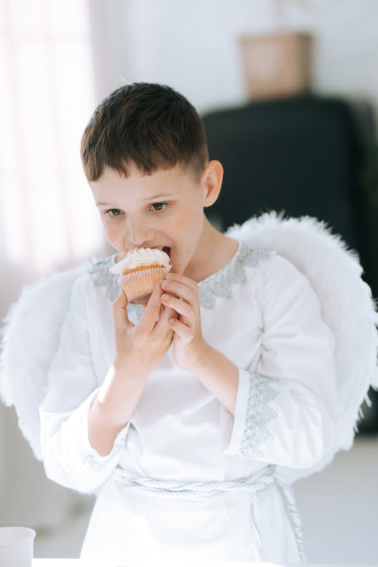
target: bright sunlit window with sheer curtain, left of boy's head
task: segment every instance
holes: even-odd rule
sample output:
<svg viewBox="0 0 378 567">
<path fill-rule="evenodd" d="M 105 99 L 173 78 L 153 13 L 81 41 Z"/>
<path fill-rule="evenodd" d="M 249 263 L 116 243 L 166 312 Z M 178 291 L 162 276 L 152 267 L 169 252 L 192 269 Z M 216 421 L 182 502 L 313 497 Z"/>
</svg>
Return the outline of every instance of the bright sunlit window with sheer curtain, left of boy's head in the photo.
<svg viewBox="0 0 378 567">
<path fill-rule="evenodd" d="M 86 0 L 0 0 L 0 261 L 37 277 L 104 238 L 82 172 L 95 107 Z"/>
</svg>

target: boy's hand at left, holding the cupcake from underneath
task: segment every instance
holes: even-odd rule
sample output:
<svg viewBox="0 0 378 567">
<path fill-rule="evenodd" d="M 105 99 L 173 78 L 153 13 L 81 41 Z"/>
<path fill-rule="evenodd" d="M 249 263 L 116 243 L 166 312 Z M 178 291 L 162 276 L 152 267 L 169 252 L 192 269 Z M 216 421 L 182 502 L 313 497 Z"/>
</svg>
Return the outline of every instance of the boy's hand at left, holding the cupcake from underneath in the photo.
<svg viewBox="0 0 378 567">
<path fill-rule="evenodd" d="M 147 378 L 172 343 L 173 331 L 168 321 L 175 312 L 162 307 L 162 293 L 160 282 L 157 282 L 137 325 L 129 321 L 126 311 L 128 300 L 123 290 L 113 303 L 116 333 L 114 367 L 125 369 L 130 379 Z"/>
</svg>

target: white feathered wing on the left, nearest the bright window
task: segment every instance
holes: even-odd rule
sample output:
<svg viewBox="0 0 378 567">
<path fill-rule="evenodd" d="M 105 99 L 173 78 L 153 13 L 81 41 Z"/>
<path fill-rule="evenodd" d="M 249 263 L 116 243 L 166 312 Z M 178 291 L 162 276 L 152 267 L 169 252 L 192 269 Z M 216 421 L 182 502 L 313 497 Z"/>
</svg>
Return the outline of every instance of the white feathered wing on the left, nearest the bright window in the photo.
<svg viewBox="0 0 378 567">
<path fill-rule="evenodd" d="M 0 396 L 14 405 L 18 424 L 41 460 L 39 407 L 48 387 L 48 369 L 55 356 L 72 286 L 89 263 L 25 286 L 2 328 Z"/>
</svg>

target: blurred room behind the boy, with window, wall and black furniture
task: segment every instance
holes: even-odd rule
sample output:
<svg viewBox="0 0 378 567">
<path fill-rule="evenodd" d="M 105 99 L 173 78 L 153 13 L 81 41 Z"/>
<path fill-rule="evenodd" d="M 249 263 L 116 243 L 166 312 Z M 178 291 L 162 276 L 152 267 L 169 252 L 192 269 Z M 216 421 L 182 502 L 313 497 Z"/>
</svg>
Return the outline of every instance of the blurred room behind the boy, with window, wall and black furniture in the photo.
<svg viewBox="0 0 378 567">
<path fill-rule="evenodd" d="M 0 0 L 0 317 L 24 285 L 112 252 L 79 144 L 95 106 L 166 83 L 205 122 L 225 169 L 209 217 L 325 220 L 378 297 L 376 0 Z M 378 562 L 378 400 L 354 447 L 296 483 L 309 562 Z M 93 506 L 46 480 L 0 405 L 0 525 L 36 529 L 36 557 L 78 557 Z"/>
</svg>

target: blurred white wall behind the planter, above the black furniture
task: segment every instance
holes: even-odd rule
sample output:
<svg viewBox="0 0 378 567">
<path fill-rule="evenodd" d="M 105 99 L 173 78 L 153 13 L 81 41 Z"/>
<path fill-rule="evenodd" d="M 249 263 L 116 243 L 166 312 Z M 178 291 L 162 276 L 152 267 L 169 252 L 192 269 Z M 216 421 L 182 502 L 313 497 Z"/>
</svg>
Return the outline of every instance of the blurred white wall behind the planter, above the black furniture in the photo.
<svg viewBox="0 0 378 567">
<path fill-rule="evenodd" d="M 92 6 L 104 9 L 97 0 Z M 288 0 L 281 20 L 274 6 L 270 0 L 110 0 L 105 26 L 113 53 L 104 70 L 97 67 L 105 78 L 101 96 L 123 77 L 167 83 L 201 112 L 238 103 L 245 98 L 238 38 L 280 21 L 315 35 L 315 91 L 366 96 L 378 115 L 378 2 Z"/>
</svg>

